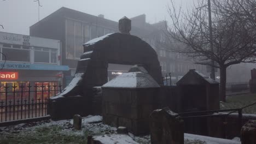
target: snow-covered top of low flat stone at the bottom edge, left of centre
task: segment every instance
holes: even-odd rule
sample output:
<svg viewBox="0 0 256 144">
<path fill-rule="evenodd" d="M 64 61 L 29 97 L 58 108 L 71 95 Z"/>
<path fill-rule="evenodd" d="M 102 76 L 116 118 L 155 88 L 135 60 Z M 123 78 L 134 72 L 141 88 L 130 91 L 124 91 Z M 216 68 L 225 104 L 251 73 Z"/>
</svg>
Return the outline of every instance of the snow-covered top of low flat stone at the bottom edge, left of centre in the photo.
<svg viewBox="0 0 256 144">
<path fill-rule="evenodd" d="M 134 141 L 128 135 L 103 135 L 103 136 L 94 136 L 94 140 L 100 141 L 104 144 L 139 144 L 138 142 Z"/>
</svg>

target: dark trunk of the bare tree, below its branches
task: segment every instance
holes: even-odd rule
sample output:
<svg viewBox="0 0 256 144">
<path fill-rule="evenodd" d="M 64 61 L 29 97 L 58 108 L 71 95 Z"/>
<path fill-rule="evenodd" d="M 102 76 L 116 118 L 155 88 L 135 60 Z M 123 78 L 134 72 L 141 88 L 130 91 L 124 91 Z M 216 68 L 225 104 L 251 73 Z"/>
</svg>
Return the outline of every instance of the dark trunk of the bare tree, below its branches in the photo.
<svg viewBox="0 0 256 144">
<path fill-rule="evenodd" d="M 224 65 L 219 67 L 220 83 L 219 83 L 219 98 L 226 102 L 226 67 Z"/>
</svg>

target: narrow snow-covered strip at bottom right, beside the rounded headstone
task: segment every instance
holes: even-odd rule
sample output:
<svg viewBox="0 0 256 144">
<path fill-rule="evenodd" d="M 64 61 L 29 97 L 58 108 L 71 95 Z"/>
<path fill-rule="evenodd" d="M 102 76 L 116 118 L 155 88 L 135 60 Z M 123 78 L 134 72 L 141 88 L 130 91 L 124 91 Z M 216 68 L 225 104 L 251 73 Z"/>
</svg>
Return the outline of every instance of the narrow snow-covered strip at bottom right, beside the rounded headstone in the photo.
<svg viewBox="0 0 256 144">
<path fill-rule="evenodd" d="M 241 144 L 240 141 L 219 139 L 216 137 L 193 135 L 193 134 L 184 134 L 184 139 L 205 141 L 206 144 Z"/>
</svg>

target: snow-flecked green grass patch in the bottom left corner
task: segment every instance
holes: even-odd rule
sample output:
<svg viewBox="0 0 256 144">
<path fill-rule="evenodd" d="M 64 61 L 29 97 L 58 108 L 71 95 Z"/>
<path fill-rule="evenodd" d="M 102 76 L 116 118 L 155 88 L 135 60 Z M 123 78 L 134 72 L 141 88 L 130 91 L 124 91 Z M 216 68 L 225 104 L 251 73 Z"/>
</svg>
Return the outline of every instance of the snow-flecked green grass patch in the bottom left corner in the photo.
<svg viewBox="0 0 256 144">
<path fill-rule="evenodd" d="M 1 133 L 0 143 L 86 143 L 87 136 L 87 131 L 79 133 L 75 130 L 64 130 L 59 125 L 44 125 L 34 130 Z"/>
</svg>

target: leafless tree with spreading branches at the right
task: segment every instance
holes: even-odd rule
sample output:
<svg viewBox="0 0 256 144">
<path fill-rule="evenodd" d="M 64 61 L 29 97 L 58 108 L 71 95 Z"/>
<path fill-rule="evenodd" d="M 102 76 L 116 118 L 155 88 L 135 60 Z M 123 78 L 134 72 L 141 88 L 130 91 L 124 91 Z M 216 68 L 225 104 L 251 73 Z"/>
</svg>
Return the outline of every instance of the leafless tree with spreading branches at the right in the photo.
<svg viewBox="0 0 256 144">
<path fill-rule="evenodd" d="M 256 2 L 211 0 L 212 40 L 206 3 L 197 1 L 191 10 L 182 11 L 171 0 L 168 13 L 172 22 L 167 26 L 167 35 L 171 42 L 180 44 L 166 49 L 184 53 L 193 58 L 196 64 L 219 68 L 219 94 L 222 101 L 226 101 L 226 68 L 233 64 L 256 62 Z M 210 43 L 213 44 L 213 49 L 210 48 Z"/>
</svg>

